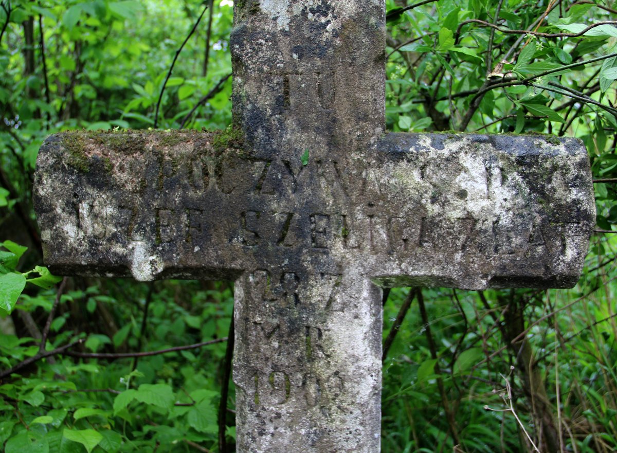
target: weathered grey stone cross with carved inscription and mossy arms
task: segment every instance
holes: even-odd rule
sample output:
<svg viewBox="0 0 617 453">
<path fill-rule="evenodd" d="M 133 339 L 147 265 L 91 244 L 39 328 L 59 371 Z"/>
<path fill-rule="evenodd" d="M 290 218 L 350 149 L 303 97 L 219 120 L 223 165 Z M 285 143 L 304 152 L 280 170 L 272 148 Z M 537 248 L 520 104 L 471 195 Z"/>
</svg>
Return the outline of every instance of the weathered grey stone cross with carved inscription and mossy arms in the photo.
<svg viewBox="0 0 617 453">
<path fill-rule="evenodd" d="M 573 286 L 595 224 L 587 153 L 384 133 L 383 0 L 234 14 L 234 128 L 46 140 L 45 261 L 233 280 L 238 452 L 378 452 L 381 288 Z"/>
</svg>

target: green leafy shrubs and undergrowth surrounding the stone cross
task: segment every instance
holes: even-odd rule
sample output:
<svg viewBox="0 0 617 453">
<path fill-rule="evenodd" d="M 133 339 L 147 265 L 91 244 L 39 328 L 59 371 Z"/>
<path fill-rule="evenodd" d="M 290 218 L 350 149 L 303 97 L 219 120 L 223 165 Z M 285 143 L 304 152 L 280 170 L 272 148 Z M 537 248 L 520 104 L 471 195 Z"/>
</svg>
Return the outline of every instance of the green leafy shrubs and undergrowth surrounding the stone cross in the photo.
<svg viewBox="0 0 617 453">
<path fill-rule="evenodd" d="M 233 387 L 220 404 L 230 284 L 60 283 L 36 267 L 30 201 L 48 134 L 154 126 L 204 4 L 0 4 L 0 450 L 234 451 Z M 599 232 L 617 223 L 615 2 L 387 8 L 389 130 L 579 137 L 597 180 L 598 232 L 570 291 L 389 294 L 383 451 L 616 451 L 617 244 Z M 159 127 L 230 123 L 231 19 L 228 0 L 205 13 L 167 83 Z M 207 341 L 216 342 L 122 357 Z"/>
</svg>

